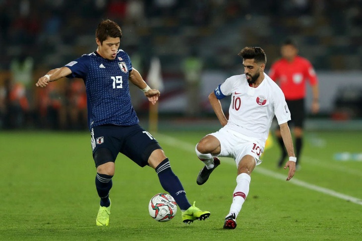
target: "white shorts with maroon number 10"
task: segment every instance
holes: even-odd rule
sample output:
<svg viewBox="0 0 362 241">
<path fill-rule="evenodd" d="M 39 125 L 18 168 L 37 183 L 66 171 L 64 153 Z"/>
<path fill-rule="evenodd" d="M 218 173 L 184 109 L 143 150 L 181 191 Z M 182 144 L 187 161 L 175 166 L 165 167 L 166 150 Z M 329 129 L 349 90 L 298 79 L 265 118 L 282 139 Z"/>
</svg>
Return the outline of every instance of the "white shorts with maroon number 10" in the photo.
<svg viewBox="0 0 362 241">
<path fill-rule="evenodd" d="M 259 140 L 225 127 L 209 135 L 216 137 L 220 142 L 221 151 L 217 156 L 232 157 L 237 166 L 244 155 L 254 157 L 256 165 L 262 162 L 259 158 L 264 151 L 264 145 L 261 145 Z"/>
</svg>

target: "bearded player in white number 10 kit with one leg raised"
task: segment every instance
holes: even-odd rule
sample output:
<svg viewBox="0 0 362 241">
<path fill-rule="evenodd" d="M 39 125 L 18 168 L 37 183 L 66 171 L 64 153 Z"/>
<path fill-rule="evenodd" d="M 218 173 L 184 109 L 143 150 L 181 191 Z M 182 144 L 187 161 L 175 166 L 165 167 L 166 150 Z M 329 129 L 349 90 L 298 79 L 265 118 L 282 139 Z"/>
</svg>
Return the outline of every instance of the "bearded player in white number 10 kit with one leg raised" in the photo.
<svg viewBox="0 0 362 241">
<path fill-rule="evenodd" d="M 250 175 L 264 150 L 274 115 L 280 126 L 289 161 L 287 181 L 296 171 L 296 160 L 288 121 L 291 115 L 284 94 L 264 73 L 266 55 L 258 47 L 245 47 L 240 53 L 244 74 L 228 78 L 209 95 L 209 101 L 221 125 L 218 132 L 205 136 L 196 145 L 196 154 L 205 164 L 197 176 L 197 184 L 204 184 L 211 172 L 220 165 L 220 157 L 232 157 L 238 167 L 237 186 L 233 203 L 225 218 L 224 229 L 235 229 L 236 218 L 249 192 Z M 229 119 L 225 117 L 220 99 L 231 95 Z"/>
</svg>

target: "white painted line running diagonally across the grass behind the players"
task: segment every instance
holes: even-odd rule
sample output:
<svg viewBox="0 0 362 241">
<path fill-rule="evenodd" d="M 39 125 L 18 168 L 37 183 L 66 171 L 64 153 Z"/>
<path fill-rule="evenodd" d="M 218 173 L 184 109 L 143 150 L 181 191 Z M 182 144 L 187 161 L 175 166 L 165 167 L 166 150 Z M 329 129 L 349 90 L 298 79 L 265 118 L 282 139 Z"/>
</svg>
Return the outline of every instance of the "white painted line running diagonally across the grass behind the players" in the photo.
<svg viewBox="0 0 362 241">
<path fill-rule="evenodd" d="M 176 138 L 166 136 L 166 135 L 162 135 L 162 134 L 156 134 L 156 136 L 157 136 L 157 138 L 160 138 L 167 145 L 178 146 L 179 148 L 181 148 L 181 149 L 183 149 L 185 151 L 189 151 L 189 152 L 194 152 L 194 150 L 195 150 L 195 145 L 196 144 L 191 145 L 189 143 L 182 142 L 182 141 L 180 141 L 180 140 L 178 140 Z M 235 165 L 235 162 L 231 162 L 231 161 L 226 161 L 226 163 Z M 269 177 L 272 177 L 272 178 L 275 178 L 275 179 L 278 179 L 278 180 L 285 181 L 285 179 L 286 179 L 285 175 L 282 175 L 280 173 L 276 173 L 276 172 L 267 170 L 267 169 L 259 167 L 259 166 L 254 169 L 254 172 L 261 173 L 261 174 L 263 174 L 265 176 L 269 176 Z M 294 184 L 294 185 L 297 185 L 297 186 L 300 186 L 300 187 L 303 187 L 303 188 L 306 188 L 306 189 L 309 189 L 309 190 L 313 190 L 313 191 L 316 191 L 316 192 L 319 192 L 319 193 L 324 193 L 324 194 L 327 194 L 327 195 L 330 195 L 330 196 L 334 196 L 334 197 L 337 197 L 337 198 L 340 198 L 340 199 L 343 199 L 343 200 L 346 200 L 346 201 L 350 201 L 350 202 L 362 205 L 362 199 L 354 197 L 354 196 L 345 195 L 343 193 L 337 193 L 337 192 L 335 192 L 333 190 L 330 190 L 330 189 L 327 189 L 327 188 L 322 188 L 322 187 L 319 187 L 319 186 L 316 186 L 316 185 L 313 185 L 313 184 L 309 184 L 307 182 L 298 180 L 296 178 L 293 178 L 289 182 L 291 184 Z"/>
</svg>

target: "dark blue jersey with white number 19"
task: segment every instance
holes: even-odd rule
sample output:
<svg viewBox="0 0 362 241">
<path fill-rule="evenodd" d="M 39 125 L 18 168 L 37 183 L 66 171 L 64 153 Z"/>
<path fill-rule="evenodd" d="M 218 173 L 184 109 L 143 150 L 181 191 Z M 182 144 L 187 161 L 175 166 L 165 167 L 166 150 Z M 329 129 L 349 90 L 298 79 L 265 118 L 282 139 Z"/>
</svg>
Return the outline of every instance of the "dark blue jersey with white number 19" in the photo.
<svg viewBox="0 0 362 241">
<path fill-rule="evenodd" d="M 65 67 L 72 72 L 68 78 L 84 80 L 89 129 L 105 124 L 131 126 L 139 122 L 129 94 L 132 63 L 126 52 L 119 49 L 114 60 L 105 59 L 97 52 L 84 54 Z"/>
</svg>

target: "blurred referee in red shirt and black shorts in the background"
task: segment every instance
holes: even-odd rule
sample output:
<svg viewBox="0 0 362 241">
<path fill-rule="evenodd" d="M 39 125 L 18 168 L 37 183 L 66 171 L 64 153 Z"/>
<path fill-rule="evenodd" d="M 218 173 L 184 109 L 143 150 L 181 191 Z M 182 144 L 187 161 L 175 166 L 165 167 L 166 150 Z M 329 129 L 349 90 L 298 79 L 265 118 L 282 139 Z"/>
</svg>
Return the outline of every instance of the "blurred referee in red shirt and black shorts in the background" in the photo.
<svg viewBox="0 0 362 241">
<path fill-rule="evenodd" d="M 297 169 L 299 169 L 305 120 L 306 83 L 309 82 L 312 87 L 313 101 L 311 110 L 313 114 L 316 114 L 319 111 L 318 79 L 311 63 L 306 58 L 298 56 L 298 47 L 293 40 L 288 39 L 283 43 L 281 54 L 282 58 L 271 66 L 269 77 L 279 84 L 291 112 L 292 120 L 289 123 L 293 125 L 294 129 L 294 146 L 296 149 Z M 284 147 L 279 128 L 275 131 L 275 135 L 282 150 L 278 167 L 283 167 L 288 153 Z"/>
</svg>

